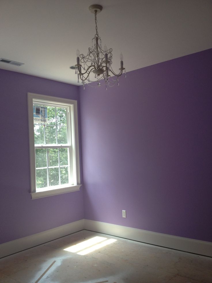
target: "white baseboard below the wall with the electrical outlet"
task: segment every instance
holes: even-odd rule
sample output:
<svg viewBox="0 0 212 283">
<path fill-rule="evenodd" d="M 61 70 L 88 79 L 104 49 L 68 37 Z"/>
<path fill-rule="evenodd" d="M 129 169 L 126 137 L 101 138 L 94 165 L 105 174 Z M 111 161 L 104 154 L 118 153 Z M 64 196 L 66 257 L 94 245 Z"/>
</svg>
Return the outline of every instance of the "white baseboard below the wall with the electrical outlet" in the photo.
<svg viewBox="0 0 212 283">
<path fill-rule="evenodd" d="M 117 237 L 122 237 L 134 241 L 158 245 L 184 252 L 191 252 L 194 254 L 201 254 L 212 257 L 212 243 L 166 235 L 146 230 L 130 228 L 105 222 L 86 220 L 84 229 L 99 233 L 105 233 Z"/>
</svg>

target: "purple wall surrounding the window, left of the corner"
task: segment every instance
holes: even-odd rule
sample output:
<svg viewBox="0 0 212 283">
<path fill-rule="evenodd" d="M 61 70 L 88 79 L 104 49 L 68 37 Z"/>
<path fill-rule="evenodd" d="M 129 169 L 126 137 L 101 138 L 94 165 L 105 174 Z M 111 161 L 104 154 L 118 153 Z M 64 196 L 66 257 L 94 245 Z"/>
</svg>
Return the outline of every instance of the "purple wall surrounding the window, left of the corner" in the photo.
<svg viewBox="0 0 212 283">
<path fill-rule="evenodd" d="M 27 92 L 78 100 L 79 89 L 0 70 L 0 243 L 84 218 L 83 190 L 31 199 Z"/>
</svg>

